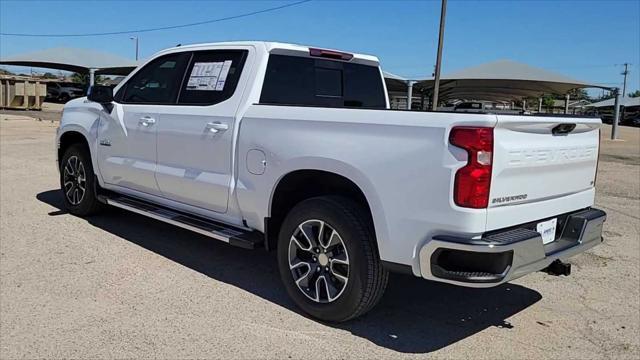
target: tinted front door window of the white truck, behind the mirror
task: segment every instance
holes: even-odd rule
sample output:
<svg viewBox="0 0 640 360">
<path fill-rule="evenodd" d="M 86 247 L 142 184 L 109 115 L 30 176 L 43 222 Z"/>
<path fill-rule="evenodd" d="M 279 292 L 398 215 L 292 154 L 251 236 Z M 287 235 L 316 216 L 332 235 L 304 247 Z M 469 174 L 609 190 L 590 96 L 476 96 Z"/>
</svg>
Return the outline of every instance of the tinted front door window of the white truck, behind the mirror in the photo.
<svg viewBox="0 0 640 360">
<path fill-rule="evenodd" d="M 176 53 L 153 60 L 127 81 L 121 101 L 128 104 L 175 104 L 190 55 Z M 119 97 L 117 94 L 116 98 Z"/>
</svg>

